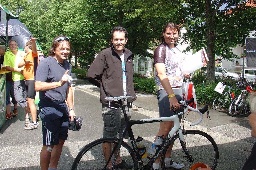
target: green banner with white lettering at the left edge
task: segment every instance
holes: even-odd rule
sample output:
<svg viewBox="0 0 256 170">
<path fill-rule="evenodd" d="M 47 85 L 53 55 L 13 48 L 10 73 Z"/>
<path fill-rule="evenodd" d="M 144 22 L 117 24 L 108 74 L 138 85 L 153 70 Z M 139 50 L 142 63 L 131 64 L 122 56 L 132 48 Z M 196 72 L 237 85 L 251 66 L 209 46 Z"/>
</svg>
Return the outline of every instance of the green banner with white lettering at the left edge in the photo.
<svg viewBox="0 0 256 170">
<path fill-rule="evenodd" d="M 6 74 L 0 75 L 0 129 L 5 124 L 6 115 Z"/>
</svg>

